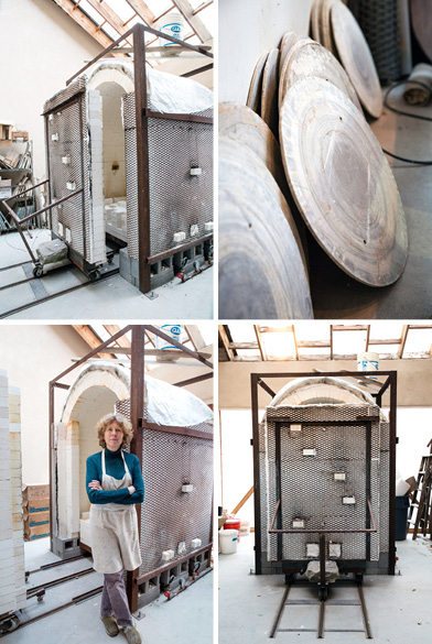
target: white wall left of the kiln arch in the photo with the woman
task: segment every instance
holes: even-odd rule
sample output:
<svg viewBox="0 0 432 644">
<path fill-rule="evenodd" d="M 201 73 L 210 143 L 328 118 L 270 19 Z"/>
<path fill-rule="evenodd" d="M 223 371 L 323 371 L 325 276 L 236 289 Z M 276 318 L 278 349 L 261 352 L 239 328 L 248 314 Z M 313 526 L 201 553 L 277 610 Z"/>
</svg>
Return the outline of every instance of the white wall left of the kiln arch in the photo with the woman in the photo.
<svg viewBox="0 0 432 644">
<path fill-rule="evenodd" d="M 20 0 L 21 1 L 21 0 Z M 1 325 L 0 369 L 21 390 L 22 481 L 47 483 L 48 382 L 82 358 L 88 346 L 68 325 Z M 78 371 L 62 379 L 71 383 Z M 55 394 L 58 418 L 67 392 Z"/>
</svg>

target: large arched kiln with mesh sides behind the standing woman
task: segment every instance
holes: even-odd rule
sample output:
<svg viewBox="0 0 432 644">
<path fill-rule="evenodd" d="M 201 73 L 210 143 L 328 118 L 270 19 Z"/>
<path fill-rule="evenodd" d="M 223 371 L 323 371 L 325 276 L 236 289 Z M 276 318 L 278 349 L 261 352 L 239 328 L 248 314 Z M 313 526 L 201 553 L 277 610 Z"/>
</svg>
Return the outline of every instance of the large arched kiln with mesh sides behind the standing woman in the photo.
<svg viewBox="0 0 432 644">
<path fill-rule="evenodd" d="M 72 385 L 52 445 L 53 552 L 91 548 L 86 459 L 99 451 L 97 421 L 130 417 L 131 370 L 98 361 Z M 140 458 L 145 498 L 140 514 L 142 565 L 138 601 L 209 565 L 213 501 L 213 413 L 192 393 L 145 374 Z"/>
</svg>

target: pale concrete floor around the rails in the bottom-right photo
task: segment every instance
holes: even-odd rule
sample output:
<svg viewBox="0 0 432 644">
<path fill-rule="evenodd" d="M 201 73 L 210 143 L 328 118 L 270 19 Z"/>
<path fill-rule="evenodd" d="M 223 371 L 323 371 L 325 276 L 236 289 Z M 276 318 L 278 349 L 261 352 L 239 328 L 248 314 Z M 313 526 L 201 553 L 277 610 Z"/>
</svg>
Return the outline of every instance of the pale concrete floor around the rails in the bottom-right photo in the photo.
<svg viewBox="0 0 432 644">
<path fill-rule="evenodd" d="M 397 575 L 368 576 L 364 582 L 366 607 L 375 644 L 429 644 L 432 642 L 432 542 L 411 538 L 397 542 Z M 219 644 L 234 637 L 248 644 L 266 644 L 269 640 L 284 591 L 284 578 L 277 575 L 255 576 L 253 535 L 241 537 L 237 553 L 219 555 Z M 295 593 L 295 594 L 294 594 Z M 291 599 L 316 599 L 315 587 L 293 588 Z M 350 587 L 332 587 L 331 597 L 355 597 Z M 288 607 L 285 627 L 317 626 L 317 607 Z M 333 605 L 326 609 L 325 625 L 336 629 L 363 627 L 358 607 Z M 349 625 L 348 625 L 349 624 Z M 281 624 L 282 627 L 282 624 Z M 363 633 L 327 633 L 331 644 L 360 644 Z M 276 641 L 316 642 L 315 633 L 279 633 Z"/>
</svg>

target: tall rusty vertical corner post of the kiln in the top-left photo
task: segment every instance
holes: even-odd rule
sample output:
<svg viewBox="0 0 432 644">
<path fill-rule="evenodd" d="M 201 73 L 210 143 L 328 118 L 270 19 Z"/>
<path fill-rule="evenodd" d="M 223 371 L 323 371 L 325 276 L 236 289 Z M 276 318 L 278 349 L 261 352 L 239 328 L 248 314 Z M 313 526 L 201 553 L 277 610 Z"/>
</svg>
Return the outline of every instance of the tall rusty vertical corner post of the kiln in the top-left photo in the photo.
<svg viewBox="0 0 432 644">
<path fill-rule="evenodd" d="M 149 194 L 149 122 L 147 109 L 147 76 L 144 30 L 133 28 L 133 73 L 137 123 L 137 193 L 138 193 L 138 262 L 139 288 L 150 291 L 150 194 Z"/>
</svg>

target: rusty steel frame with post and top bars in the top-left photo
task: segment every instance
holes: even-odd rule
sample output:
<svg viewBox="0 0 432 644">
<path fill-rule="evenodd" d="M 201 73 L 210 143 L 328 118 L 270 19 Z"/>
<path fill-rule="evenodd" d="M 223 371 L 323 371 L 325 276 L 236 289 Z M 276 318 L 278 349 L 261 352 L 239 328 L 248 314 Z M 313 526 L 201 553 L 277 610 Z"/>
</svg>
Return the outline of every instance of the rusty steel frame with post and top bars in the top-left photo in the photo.
<svg viewBox="0 0 432 644">
<path fill-rule="evenodd" d="M 133 36 L 133 81 L 134 81 L 134 97 L 136 97 L 136 128 L 137 128 L 137 194 L 138 194 L 138 252 L 139 252 L 139 290 L 141 293 L 149 293 L 151 291 L 151 263 L 154 258 L 151 256 L 150 252 L 150 160 L 149 160 L 149 118 L 175 118 L 179 114 L 159 114 L 148 110 L 147 107 L 147 74 L 145 74 L 145 43 L 144 32 L 152 35 L 163 37 L 174 44 L 185 46 L 188 50 L 197 52 L 203 56 L 213 58 L 213 54 L 207 52 L 205 48 L 191 45 L 184 41 L 172 37 L 165 33 L 159 32 L 150 26 L 137 23 L 129 31 L 127 31 L 121 37 L 115 41 L 111 45 L 106 47 L 100 54 L 95 56 L 87 65 L 82 67 L 79 72 L 74 74 L 68 80 L 66 86 L 69 85 L 77 76 L 83 74 L 91 65 L 102 58 L 108 52 L 114 50 L 128 36 Z M 207 66 L 208 67 L 208 66 Z M 206 67 L 206 68 L 207 68 Z M 201 68 L 196 69 L 196 74 L 202 72 Z M 191 72 L 186 73 L 191 76 Z M 194 122 L 208 123 L 213 122 L 213 119 L 208 117 L 198 117 L 196 114 L 181 114 L 182 120 L 188 120 Z M 197 239 L 195 242 L 203 242 L 204 238 Z M 179 252 L 179 248 L 173 249 L 165 256 L 171 256 L 174 252 Z"/>
</svg>

